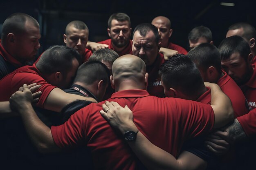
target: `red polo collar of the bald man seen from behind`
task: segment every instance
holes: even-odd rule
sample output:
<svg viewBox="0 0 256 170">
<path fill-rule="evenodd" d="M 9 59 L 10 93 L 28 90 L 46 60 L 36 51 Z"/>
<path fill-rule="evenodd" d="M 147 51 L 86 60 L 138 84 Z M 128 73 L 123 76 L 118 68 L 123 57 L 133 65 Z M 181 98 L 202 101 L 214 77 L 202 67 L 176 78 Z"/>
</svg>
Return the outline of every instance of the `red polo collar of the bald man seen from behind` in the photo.
<svg viewBox="0 0 256 170">
<path fill-rule="evenodd" d="M 129 89 L 129 90 L 123 90 L 123 91 L 118 91 L 116 93 L 113 93 L 110 99 L 124 98 L 124 97 L 146 97 L 146 96 L 152 96 L 152 95 L 150 95 L 146 90 Z"/>
</svg>

